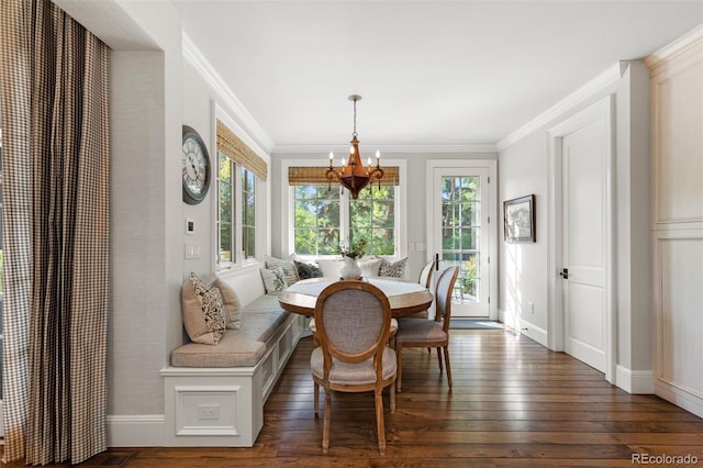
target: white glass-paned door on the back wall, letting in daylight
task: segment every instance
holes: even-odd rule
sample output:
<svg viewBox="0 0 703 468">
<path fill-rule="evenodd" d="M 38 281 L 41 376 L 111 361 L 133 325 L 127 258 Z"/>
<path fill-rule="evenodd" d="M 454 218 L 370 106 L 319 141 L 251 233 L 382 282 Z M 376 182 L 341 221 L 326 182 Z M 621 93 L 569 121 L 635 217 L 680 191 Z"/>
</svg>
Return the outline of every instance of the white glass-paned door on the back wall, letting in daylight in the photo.
<svg viewBox="0 0 703 468">
<path fill-rule="evenodd" d="M 428 191 L 428 253 L 440 268 L 456 265 L 453 317 L 491 317 L 491 200 L 488 167 L 436 167 Z"/>
</svg>

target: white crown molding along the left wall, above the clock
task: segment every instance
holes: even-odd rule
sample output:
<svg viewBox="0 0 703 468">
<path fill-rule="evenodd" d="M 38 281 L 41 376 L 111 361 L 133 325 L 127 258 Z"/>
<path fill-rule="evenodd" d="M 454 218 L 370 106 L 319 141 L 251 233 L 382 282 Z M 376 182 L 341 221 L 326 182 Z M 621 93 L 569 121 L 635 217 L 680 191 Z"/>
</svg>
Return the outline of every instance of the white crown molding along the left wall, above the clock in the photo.
<svg viewBox="0 0 703 468">
<path fill-rule="evenodd" d="M 208 59 L 202 55 L 196 44 L 183 32 L 183 58 L 196 68 L 204 80 L 220 94 L 222 101 L 233 112 L 233 119 L 238 125 L 260 146 L 270 154 L 274 148 L 274 141 L 264 132 L 264 129 L 254 120 L 249 111 L 242 101 L 230 89 L 227 83 L 220 77 Z"/>
</svg>

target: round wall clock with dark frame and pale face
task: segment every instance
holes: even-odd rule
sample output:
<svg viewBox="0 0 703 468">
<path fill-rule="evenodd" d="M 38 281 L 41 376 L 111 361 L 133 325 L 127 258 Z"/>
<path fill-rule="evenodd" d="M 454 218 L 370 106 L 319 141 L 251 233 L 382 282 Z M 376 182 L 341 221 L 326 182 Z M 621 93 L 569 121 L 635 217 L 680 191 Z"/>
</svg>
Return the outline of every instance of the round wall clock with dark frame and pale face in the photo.
<svg viewBox="0 0 703 468">
<path fill-rule="evenodd" d="M 210 187 L 208 147 L 193 129 L 183 125 L 183 201 L 198 204 Z"/>
</svg>

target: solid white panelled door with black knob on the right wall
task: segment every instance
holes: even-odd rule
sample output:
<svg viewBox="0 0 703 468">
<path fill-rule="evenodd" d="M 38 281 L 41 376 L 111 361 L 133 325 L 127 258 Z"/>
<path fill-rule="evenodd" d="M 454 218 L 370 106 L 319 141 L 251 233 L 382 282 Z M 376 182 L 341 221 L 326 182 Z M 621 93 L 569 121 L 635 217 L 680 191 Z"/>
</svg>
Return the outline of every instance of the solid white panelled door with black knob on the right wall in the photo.
<svg viewBox="0 0 703 468">
<path fill-rule="evenodd" d="M 592 121 L 561 137 L 565 352 L 605 371 L 610 133 Z"/>
</svg>

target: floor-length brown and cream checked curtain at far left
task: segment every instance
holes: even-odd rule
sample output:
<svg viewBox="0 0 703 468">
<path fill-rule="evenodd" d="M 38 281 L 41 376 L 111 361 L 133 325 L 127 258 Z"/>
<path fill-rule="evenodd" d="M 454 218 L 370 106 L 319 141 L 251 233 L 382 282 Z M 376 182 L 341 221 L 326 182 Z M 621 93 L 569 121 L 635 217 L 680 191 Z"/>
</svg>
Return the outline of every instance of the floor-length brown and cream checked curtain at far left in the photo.
<svg viewBox="0 0 703 468">
<path fill-rule="evenodd" d="M 0 0 L 7 461 L 107 448 L 108 60 L 49 0 Z"/>
</svg>

